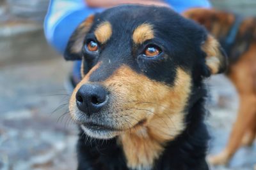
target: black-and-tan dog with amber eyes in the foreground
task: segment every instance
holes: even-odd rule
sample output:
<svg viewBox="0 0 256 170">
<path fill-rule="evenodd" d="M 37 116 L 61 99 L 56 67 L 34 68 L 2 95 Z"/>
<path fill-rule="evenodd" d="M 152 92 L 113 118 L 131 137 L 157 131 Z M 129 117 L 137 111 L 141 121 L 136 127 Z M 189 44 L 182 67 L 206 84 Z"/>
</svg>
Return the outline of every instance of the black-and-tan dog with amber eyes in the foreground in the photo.
<svg viewBox="0 0 256 170">
<path fill-rule="evenodd" d="M 86 18 L 66 60 L 82 60 L 69 110 L 78 170 L 209 169 L 204 78 L 227 57 L 204 27 L 157 6 L 122 5 Z"/>
</svg>

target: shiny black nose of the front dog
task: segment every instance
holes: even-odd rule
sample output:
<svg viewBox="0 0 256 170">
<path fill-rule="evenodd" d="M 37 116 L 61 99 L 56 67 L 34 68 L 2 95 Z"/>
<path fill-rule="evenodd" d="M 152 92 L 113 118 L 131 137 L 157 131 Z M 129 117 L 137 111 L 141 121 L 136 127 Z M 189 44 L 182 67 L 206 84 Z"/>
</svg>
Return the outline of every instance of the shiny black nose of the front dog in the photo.
<svg viewBox="0 0 256 170">
<path fill-rule="evenodd" d="M 108 101 L 108 92 L 100 85 L 83 85 L 76 93 L 77 108 L 84 113 L 97 113 Z"/>
</svg>

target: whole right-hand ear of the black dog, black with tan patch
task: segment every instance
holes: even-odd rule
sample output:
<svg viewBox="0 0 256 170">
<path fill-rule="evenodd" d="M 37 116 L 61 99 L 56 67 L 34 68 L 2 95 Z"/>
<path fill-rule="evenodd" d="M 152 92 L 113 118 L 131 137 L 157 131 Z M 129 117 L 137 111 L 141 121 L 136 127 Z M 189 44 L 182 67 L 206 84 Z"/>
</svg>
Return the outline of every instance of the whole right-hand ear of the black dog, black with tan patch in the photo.
<svg viewBox="0 0 256 170">
<path fill-rule="evenodd" d="M 227 55 L 213 36 L 208 34 L 201 48 L 205 53 L 204 76 L 223 73 L 227 69 Z"/>
</svg>

